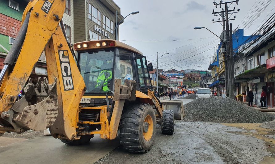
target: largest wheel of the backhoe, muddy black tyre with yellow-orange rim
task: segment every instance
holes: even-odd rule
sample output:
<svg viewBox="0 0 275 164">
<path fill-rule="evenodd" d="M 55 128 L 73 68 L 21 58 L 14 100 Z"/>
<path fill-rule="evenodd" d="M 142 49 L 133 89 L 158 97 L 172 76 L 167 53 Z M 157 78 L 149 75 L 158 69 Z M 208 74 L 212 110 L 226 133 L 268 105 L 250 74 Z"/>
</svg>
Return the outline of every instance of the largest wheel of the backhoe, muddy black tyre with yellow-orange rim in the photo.
<svg viewBox="0 0 275 164">
<path fill-rule="evenodd" d="M 120 121 L 121 145 L 129 152 L 146 153 L 156 134 L 156 117 L 150 104 L 134 104 L 124 109 Z"/>
</svg>

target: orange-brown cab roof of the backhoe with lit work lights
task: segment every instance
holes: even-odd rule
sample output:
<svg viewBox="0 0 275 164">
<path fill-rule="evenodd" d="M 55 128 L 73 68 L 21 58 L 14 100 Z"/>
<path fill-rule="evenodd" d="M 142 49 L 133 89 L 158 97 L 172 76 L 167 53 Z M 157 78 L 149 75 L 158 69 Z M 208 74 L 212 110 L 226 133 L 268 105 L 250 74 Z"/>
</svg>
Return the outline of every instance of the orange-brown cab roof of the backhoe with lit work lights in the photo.
<svg viewBox="0 0 275 164">
<path fill-rule="evenodd" d="M 95 46 L 96 43 L 102 43 L 102 42 L 107 42 L 107 43 L 114 42 L 114 46 L 104 46 L 104 47 L 103 46 L 100 46 L 100 47 Z M 76 48 L 77 45 L 83 45 L 83 44 L 88 44 L 89 46 L 87 48 Z M 90 40 L 90 41 L 74 43 L 75 50 L 92 50 L 92 49 L 102 49 L 102 48 L 111 48 L 111 47 L 119 47 L 119 48 L 133 51 L 136 54 L 143 55 L 142 52 L 135 49 L 134 47 L 129 46 L 125 43 L 119 42 L 117 40 L 113 40 L 113 39 Z"/>
</svg>

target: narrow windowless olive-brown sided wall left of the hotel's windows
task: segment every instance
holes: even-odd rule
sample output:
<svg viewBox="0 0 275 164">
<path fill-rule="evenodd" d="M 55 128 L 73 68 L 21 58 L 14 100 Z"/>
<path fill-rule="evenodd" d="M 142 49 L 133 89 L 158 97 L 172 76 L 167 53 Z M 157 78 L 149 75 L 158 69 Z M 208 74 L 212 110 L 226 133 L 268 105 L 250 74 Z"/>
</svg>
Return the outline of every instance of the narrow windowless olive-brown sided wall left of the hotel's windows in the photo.
<svg viewBox="0 0 275 164">
<path fill-rule="evenodd" d="M 74 1 L 74 43 L 86 41 L 86 0 Z"/>
</svg>

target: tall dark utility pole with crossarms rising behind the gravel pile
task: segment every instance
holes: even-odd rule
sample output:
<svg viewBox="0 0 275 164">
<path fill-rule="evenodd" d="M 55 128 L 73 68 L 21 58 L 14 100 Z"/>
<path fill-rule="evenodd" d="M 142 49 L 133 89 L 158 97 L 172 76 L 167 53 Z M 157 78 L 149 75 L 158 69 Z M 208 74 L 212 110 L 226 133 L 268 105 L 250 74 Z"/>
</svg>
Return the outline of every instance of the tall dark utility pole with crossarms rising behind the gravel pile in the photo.
<svg viewBox="0 0 275 164">
<path fill-rule="evenodd" d="M 235 99 L 235 92 L 234 92 L 235 83 L 234 83 L 234 70 L 233 70 L 233 48 L 232 48 L 233 44 L 231 44 L 232 34 L 230 37 L 230 31 L 232 31 L 232 27 L 231 27 L 231 30 L 229 30 L 229 21 L 235 20 L 235 16 L 234 16 L 234 19 L 229 19 L 230 18 L 229 14 L 232 15 L 233 13 L 238 13 L 239 9 L 237 10 L 237 12 L 235 12 L 235 7 L 233 10 L 228 10 L 228 3 L 231 3 L 231 4 L 236 3 L 238 5 L 238 2 L 239 2 L 239 0 L 231 1 L 231 2 L 224 2 L 224 3 L 222 3 L 222 1 L 220 1 L 219 4 L 214 2 L 214 6 L 216 6 L 216 8 L 217 8 L 217 5 L 219 5 L 220 8 L 222 8 L 222 4 L 224 4 L 225 11 L 222 8 L 222 11 L 214 12 L 214 10 L 213 10 L 213 13 L 212 13 L 212 14 L 214 14 L 214 16 L 219 15 L 222 17 L 222 21 L 220 21 L 220 19 L 218 19 L 219 21 L 215 21 L 215 22 L 222 22 L 223 31 L 224 30 L 226 31 L 225 84 L 226 84 L 226 94 L 228 94 L 229 98 L 232 98 L 232 99 Z M 216 14 L 218 14 L 218 15 L 216 15 Z M 213 19 L 213 22 L 214 22 L 214 19 Z"/>
</svg>

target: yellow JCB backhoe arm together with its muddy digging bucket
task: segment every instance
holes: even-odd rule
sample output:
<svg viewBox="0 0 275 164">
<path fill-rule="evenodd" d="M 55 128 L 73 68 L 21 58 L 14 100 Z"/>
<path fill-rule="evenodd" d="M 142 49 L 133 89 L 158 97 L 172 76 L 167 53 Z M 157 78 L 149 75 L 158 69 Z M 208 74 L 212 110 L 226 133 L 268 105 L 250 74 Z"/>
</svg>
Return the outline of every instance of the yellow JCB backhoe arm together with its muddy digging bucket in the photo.
<svg viewBox="0 0 275 164">
<path fill-rule="evenodd" d="M 76 114 L 86 87 L 61 21 L 65 0 L 32 0 L 0 74 L 0 134 L 50 127 L 55 138 L 76 138 Z M 60 23 L 61 22 L 61 23 Z M 28 78 L 45 50 L 49 81 Z M 25 86 L 25 88 L 24 88 Z M 24 88 L 25 96 L 16 101 Z"/>
</svg>

